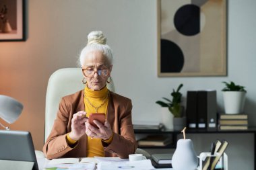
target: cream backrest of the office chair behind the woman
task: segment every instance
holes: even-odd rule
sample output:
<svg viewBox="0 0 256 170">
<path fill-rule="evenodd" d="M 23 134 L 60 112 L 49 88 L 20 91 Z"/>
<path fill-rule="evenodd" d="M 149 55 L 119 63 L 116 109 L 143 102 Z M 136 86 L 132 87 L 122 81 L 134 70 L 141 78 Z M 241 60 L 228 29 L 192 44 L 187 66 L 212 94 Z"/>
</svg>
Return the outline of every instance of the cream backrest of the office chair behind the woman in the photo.
<svg viewBox="0 0 256 170">
<path fill-rule="evenodd" d="M 80 68 L 59 69 L 49 78 L 45 103 L 44 142 L 53 128 L 61 97 L 84 89 L 83 78 Z M 115 92 L 113 79 L 110 83 L 107 83 L 107 87 L 110 91 Z"/>
</svg>

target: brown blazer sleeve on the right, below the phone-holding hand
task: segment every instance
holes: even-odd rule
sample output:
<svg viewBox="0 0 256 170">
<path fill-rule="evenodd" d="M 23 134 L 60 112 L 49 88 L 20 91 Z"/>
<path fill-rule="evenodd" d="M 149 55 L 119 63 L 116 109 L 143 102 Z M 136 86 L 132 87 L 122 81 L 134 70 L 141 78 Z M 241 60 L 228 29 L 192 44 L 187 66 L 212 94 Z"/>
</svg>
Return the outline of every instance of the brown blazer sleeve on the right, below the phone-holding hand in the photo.
<svg viewBox="0 0 256 170">
<path fill-rule="evenodd" d="M 129 154 L 135 153 L 137 142 L 133 130 L 131 119 L 131 100 L 127 102 L 125 110 L 120 115 L 119 127 L 120 134 L 114 133 L 113 140 L 110 144 L 102 142 L 105 151 L 114 153 L 120 158 L 128 158 Z"/>
</svg>

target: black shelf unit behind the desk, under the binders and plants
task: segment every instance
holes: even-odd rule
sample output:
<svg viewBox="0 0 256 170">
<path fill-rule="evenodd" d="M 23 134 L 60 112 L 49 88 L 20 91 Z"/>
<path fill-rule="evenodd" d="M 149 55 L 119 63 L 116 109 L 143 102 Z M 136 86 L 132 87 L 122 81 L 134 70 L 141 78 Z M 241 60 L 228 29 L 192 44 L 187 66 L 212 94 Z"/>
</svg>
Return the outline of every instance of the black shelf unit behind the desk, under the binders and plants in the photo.
<svg viewBox="0 0 256 170">
<path fill-rule="evenodd" d="M 140 134 L 164 134 L 164 135 L 170 135 L 172 136 L 172 143 L 168 144 L 167 146 L 139 146 L 139 148 L 176 148 L 177 144 L 177 136 L 181 134 L 180 131 L 158 131 L 158 130 L 134 130 L 135 135 L 140 135 Z M 209 130 L 186 130 L 186 134 L 253 134 L 254 138 L 254 153 L 256 154 L 256 142 L 255 142 L 255 137 L 256 137 L 256 127 L 250 127 L 248 130 L 214 130 L 214 131 L 209 131 Z M 243 143 L 241 143 L 242 145 Z M 255 155 L 254 154 L 254 155 Z M 256 170 L 255 166 L 256 162 L 256 156 L 254 157 L 254 169 Z"/>
</svg>

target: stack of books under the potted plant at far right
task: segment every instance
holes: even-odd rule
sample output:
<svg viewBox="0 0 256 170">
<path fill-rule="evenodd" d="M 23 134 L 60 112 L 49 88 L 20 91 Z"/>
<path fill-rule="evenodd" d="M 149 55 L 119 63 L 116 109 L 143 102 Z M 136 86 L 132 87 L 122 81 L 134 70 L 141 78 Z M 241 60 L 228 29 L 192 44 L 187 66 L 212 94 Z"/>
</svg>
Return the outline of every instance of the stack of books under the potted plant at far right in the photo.
<svg viewBox="0 0 256 170">
<path fill-rule="evenodd" d="M 221 114 L 219 120 L 220 130 L 247 130 L 247 114 Z"/>
</svg>

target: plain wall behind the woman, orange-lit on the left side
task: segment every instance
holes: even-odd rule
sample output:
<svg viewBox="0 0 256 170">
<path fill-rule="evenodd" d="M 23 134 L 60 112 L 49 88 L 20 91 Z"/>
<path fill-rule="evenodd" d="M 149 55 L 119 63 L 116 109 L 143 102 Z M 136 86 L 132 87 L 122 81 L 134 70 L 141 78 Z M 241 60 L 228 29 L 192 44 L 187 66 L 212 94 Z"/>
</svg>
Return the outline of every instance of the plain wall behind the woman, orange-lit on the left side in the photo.
<svg viewBox="0 0 256 170">
<path fill-rule="evenodd" d="M 187 90 L 216 89 L 223 112 L 222 81 L 245 85 L 245 112 L 256 125 L 256 1 L 229 1 L 227 77 L 157 77 L 156 1 L 148 0 L 28 0 L 28 40 L 0 42 L 0 93 L 24 103 L 24 112 L 12 129 L 30 130 L 36 149 L 44 132 L 46 84 L 53 71 L 75 67 L 86 35 L 102 30 L 115 52 L 113 77 L 117 93 L 133 100 L 133 120 L 160 120 L 155 101 L 168 97 L 183 83 Z M 205 134 L 206 135 L 206 134 Z M 244 137 L 245 136 L 245 137 Z M 203 138 L 202 138 L 203 137 Z M 230 169 L 253 169 L 253 136 L 191 135 L 198 153 L 210 142 L 227 138 Z M 243 146 L 241 146 L 243 143 Z"/>
</svg>

